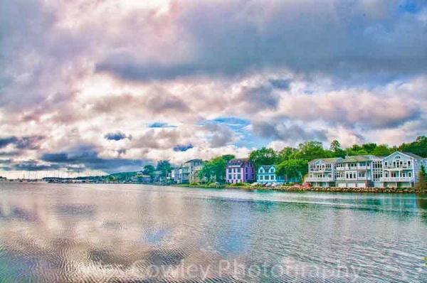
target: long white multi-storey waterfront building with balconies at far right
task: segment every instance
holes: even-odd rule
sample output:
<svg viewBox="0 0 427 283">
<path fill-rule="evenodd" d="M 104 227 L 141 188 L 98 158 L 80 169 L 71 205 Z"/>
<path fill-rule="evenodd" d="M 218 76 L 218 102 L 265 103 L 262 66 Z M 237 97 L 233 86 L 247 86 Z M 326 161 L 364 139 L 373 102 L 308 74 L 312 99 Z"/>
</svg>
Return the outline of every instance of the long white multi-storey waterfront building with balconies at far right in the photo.
<svg viewBox="0 0 427 283">
<path fill-rule="evenodd" d="M 347 156 L 345 159 L 315 159 L 309 162 L 305 181 L 312 186 L 340 188 L 413 187 L 427 159 L 396 151 L 386 157 Z"/>
</svg>

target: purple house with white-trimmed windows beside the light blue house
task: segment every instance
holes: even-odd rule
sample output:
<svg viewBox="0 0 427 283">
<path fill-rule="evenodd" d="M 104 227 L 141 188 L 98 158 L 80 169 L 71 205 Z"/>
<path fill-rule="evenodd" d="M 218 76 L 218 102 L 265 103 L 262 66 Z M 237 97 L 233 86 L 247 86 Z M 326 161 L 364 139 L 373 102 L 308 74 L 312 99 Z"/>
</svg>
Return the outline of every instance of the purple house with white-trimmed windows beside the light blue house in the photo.
<svg viewBox="0 0 427 283">
<path fill-rule="evenodd" d="M 227 183 L 247 183 L 255 181 L 255 164 L 249 159 L 233 159 L 226 168 Z"/>
</svg>

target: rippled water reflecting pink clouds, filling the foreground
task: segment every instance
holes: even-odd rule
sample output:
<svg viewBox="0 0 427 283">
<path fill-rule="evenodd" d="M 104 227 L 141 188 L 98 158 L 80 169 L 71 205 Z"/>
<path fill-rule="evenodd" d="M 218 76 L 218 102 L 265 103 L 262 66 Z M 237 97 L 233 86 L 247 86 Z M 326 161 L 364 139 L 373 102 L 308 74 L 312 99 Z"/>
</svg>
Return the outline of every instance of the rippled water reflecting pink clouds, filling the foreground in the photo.
<svg viewBox="0 0 427 283">
<path fill-rule="evenodd" d="M 427 282 L 427 196 L 0 183 L 0 282 Z"/>
</svg>

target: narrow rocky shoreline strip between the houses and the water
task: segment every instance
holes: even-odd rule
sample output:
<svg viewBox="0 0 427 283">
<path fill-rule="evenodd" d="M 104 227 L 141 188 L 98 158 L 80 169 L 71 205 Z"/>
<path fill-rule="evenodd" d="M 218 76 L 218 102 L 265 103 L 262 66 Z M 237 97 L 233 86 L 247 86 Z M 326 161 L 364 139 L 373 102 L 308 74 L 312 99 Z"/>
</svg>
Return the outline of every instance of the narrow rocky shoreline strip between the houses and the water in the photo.
<svg viewBox="0 0 427 283">
<path fill-rule="evenodd" d="M 338 187 L 297 187 L 297 186 L 277 186 L 277 187 L 262 187 L 251 186 L 250 184 L 226 184 L 218 185 L 214 183 L 186 183 L 174 184 L 172 186 L 186 187 L 186 188 L 240 188 L 244 190 L 259 190 L 259 191 L 288 191 L 288 192 L 327 192 L 327 193 L 427 193 L 425 190 L 418 190 L 417 188 L 338 188 Z"/>
</svg>

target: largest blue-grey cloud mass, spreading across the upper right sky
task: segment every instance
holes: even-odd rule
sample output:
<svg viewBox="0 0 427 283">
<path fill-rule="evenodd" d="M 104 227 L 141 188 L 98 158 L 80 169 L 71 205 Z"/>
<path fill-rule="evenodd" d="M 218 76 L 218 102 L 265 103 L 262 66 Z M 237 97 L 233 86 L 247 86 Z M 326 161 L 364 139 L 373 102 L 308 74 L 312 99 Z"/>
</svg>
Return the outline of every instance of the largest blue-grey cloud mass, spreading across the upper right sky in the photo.
<svg viewBox="0 0 427 283">
<path fill-rule="evenodd" d="M 174 50 L 148 42 L 152 48 L 168 50 L 168 60 L 140 58 L 136 50 L 114 51 L 97 63 L 96 70 L 137 81 L 283 68 L 344 79 L 425 73 L 426 26 L 418 13 L 427 4 L 419 2 L 416 9 L 404 9 L 412 13 L 399 14 L 401 1 L 368 3 L 186 1 L 164 18 L 172 23 L 167 42 L 181 46 L 181 36 L 194 48 Z"/>
</svg>

